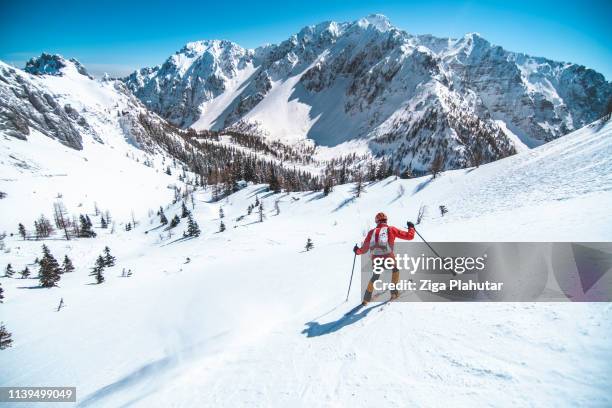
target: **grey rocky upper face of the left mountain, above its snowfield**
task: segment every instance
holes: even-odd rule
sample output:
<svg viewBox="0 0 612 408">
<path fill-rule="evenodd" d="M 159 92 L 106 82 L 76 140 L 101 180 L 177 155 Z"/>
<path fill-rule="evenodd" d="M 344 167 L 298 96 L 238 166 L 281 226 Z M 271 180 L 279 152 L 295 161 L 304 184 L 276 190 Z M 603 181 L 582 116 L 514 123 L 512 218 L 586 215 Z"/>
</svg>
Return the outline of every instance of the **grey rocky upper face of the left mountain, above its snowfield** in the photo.
<svg viewBox="0 0 612 408">
<path fill-rule="evenodd" d="M 123 82 L 95 80 L 78 61 L 50 54 L 24 71 L 0 62 L 0 132 L 27 140 L 33 129 L 77 150 L 89 138 L 152 152 L 159 133 L 173 136 Z"/>
</svg>

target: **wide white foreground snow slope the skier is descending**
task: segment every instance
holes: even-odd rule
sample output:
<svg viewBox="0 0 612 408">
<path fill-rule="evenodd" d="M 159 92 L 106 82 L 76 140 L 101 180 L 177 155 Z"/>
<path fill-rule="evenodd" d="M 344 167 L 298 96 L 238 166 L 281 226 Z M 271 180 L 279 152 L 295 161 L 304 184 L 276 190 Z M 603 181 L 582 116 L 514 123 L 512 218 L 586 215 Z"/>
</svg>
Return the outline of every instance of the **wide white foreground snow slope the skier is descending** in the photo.
<svg viewBox="0 0 612 408">
<path fill-rule="evenodd" d="M 217 203 L 201 191 L 193 240 L 145 234 L 153 217 L 46 241 L 77 270 L 48 290 L 2 278 L 14 345 L 0 352 L 0 385 L 76 386 L 79 406 L 100 407 L 612 405 L 609 303 L 372 304 L 343 318 L 361 296 L 356 279 L 344 302 L 351 248 L 381 210 L 404 226 L 427 205 L 419 229 L 433 242 L 612 240 L 612 122 L 435 180 L 389 178 L 358 199 L 351 189 L 249 185 Z M 255 211 L 236 221 L 256 195 L 264 222 Z M 6 241 L 0 265 L 40 255 L 41 242 Z M 117 266 L 92 285 L 105 245 Z"/>
</svg>

